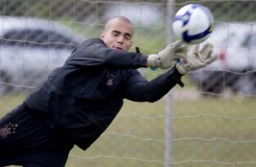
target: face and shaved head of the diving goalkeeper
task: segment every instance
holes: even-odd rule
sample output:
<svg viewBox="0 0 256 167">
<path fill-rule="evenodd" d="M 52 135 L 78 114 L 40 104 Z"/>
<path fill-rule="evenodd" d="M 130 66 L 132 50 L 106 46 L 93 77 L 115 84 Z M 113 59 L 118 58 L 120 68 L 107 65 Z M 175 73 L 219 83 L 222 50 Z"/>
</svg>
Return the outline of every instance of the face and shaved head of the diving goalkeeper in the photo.
<svg viewBox="0 0 256 167">
<path fill-rule="evenodd" d="M 115 19 L 106 26 L 101 39 L 110 48 L 129 51 L 133 44 L 133 27 L 129 23 Z"/>
</svg>

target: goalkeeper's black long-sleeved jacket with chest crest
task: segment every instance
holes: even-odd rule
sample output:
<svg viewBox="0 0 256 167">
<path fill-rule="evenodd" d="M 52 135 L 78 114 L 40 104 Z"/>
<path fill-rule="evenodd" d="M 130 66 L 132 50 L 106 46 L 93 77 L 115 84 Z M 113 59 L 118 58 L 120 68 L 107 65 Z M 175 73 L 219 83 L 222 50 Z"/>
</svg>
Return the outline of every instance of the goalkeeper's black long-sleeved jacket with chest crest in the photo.
<svg viewBox="0 0 256 167">
<path fill-rule="evenodd" d="M 147 56 L 86 40 L 25 103 L 55 133 L 85 150 L 112 123 L 123 99 L 155 102 L 180 81 L 175 68 L 147 81 L 137 70 L 146 67 Z"/>
</svg>

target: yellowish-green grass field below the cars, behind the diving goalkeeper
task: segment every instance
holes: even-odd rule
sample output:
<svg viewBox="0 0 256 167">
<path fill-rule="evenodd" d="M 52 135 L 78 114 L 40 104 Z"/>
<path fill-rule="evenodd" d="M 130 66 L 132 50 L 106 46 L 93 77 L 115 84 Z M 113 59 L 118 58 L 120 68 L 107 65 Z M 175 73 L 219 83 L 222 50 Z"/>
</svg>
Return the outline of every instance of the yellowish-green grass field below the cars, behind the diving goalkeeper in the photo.
<svg viewBox="0 0 256 167">
<path fill-rule="evenodd" d="M 0 100 L 1 114 L 23 96 Z M 66 166 L 158 167 L 164 164 L 165 100 L 125 101 L 121 113 L 87 150 L 74 147 Z M 256 165 L 255 99 L 172 99 L 172 167 Z"/>
</svg>

